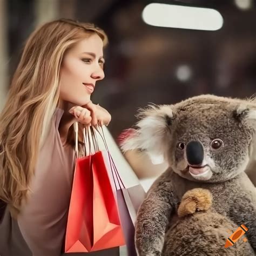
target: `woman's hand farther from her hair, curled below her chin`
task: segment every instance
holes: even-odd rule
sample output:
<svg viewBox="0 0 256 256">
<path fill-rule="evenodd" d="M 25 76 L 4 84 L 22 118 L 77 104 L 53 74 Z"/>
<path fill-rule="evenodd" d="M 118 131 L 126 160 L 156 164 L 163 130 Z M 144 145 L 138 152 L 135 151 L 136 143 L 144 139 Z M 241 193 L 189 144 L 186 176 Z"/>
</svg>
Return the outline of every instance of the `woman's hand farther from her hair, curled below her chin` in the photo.
<svg viewBox="0 0 256 256">
<path fill-rule="evenodd" d="M 83 107 L 86 107 L 91 113 L 91 124 L 92 125 L 109 125 L 111 121 L 111 114 L 99 105 L 95 105 L 92 102 L 87 103 Z"/>
</svg>

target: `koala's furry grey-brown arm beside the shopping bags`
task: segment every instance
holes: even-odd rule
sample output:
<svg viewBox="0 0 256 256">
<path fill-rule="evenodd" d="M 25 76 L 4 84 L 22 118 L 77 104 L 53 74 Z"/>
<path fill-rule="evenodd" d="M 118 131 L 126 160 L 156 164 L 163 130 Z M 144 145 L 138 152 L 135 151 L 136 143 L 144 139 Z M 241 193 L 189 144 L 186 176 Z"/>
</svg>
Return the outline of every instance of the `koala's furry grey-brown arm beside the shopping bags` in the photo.
<svg viewBox="0 0 256 256">
<path fill-rule="evenodd" d="M 167 170 L 154 182 L 138 211 L 135 240 L 140 256 L 161 255 L 176 202 L 171 171 Z"/>
</svg>

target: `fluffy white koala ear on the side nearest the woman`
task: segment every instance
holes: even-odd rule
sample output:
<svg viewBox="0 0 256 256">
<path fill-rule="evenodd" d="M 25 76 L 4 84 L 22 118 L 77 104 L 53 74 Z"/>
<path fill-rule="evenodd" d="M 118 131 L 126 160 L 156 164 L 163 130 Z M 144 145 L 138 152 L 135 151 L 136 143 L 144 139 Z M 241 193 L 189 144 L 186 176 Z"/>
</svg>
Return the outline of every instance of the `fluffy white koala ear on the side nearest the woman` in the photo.
<svg viewBox="0 0 256 256">
<path fill-rule="evenodd" d="M 123 151 L 139 149 L 149 154 L 154 164 L 163 162 L 173 122 L 172 105 L 148 106 L 140 110 L 136 132 L 124 140 Z"/>
</svg>

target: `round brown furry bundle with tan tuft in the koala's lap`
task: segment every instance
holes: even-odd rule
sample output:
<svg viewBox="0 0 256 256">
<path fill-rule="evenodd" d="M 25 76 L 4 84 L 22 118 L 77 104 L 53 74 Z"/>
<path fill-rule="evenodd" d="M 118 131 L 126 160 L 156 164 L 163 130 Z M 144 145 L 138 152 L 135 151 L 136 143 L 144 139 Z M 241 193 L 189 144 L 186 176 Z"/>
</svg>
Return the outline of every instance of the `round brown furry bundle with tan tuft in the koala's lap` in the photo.
<svg viewBox="0 0 256 256">
<path fill-rule="evenodd" d="M 227 238 L 241 230 L 229 218 L 212 211 L 211 192 L 204 188 L 188 190 L 181 198 L 178 219 L 166 233 L 163 255 L 254 255 L 247 238 L 240 235 L 230 246 Z M 236 233 L 237 234 L 237 233 Z M 227 250 L 227 246 L 229 247 Z"/>
</svg>

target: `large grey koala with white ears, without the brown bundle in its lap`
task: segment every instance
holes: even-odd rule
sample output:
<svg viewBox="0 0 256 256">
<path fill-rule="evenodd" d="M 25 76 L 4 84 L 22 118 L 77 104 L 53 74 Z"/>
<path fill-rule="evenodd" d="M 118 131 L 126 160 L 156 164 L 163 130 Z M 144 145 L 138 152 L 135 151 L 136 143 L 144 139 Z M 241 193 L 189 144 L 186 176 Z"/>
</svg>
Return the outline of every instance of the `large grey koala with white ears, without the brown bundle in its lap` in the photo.
<svg viewBox="0 0 256 256">
<path fill-rule="evenodd" d="M 139 149 L 151 158 L 163 158 L 169 167 L 139 208 L 135 238 L 139 255 L 173 255 L 163 253 L 170 248 L 166 234 L 177 221 L 181 198 L 193 188 L 211 192 L 213 212 L 237 227 L 244 224 L 248 242 L 256 251 L 256 188 L 245 173 L 255 157 L 255 137 L 255 100 L 202 95 L 140 112 L 136 132 L 123 142 L 122 149 Z M 200 244 L 191 246 L 200 251 Z M 179 255 L 189 254 L 181 250 Z"/>
</svg>

